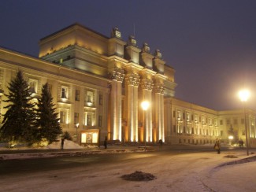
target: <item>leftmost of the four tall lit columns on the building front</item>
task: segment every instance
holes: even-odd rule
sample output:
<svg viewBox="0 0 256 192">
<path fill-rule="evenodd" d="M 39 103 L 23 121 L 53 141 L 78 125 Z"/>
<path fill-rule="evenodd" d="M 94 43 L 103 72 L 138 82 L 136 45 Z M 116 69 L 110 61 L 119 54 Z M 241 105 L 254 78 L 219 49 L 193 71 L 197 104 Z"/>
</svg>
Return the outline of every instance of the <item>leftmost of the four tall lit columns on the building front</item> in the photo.
<svg viewBox="0 0 256 192">
<path fill-rule="evenodd" d="M 110 127 L 113 131 L 113 140 L 122 140 L 122 116 L 121 116 L 121 99 L 122 99 L 122 82 L 124 79 L 124 70 L 121 68 L 114 68 L 111 73 L 111 107 L 110 107 Z"/>
</svg>

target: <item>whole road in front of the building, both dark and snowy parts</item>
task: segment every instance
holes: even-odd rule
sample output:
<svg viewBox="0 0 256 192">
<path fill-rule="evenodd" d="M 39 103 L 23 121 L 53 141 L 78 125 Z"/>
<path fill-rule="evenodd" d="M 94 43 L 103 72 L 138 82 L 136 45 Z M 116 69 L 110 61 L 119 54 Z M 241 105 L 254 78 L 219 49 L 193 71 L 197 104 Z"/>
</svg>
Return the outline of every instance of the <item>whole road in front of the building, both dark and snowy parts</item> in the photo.
<svg viewBox="0 0 256 192">
<path fill-rule="evenodd" d="M 213 191 L 203 178 L 218 164 L 232 161 L 211 148 L 167 148 L 147 153 L 113 153 L 0 162 L 1 191 Z M 135 171 L 157 177 L 130 182 Z"/>
</svg>

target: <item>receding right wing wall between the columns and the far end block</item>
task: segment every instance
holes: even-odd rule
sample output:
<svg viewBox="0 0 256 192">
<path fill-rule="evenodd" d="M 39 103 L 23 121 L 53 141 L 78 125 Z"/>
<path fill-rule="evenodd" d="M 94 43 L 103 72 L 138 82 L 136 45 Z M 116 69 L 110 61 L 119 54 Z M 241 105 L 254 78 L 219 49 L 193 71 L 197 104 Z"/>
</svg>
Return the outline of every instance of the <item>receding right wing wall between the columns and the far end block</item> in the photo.
<svg viewBox="0 0 256 192">
<path fill-rule="evenodd" d="M 165 98 L 166 140 L 171 143 L 206 144 L 224 138 L 217 111 L 176 98 Z"/>
</svg>

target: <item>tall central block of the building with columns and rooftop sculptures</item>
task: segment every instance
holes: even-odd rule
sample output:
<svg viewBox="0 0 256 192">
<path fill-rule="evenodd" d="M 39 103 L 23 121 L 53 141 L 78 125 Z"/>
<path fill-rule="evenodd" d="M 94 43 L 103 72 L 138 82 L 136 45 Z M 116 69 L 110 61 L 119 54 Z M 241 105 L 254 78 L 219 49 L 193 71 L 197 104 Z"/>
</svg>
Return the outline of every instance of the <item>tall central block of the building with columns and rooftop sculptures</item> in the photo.
<svg viewBox="0 0 256 192">
<path fill-rule="evenodd" d="M 106 133 L 110 140 L 165 140 L 163 98 L 175 94 L 174 69 L 165 66 L 160 50 L 150 54 L 147 43 L 140 49 L 133 36 L 124 42 L 118 28 L 111 34 L 107 38 L 73 24 L 41 39 L 39 57 L 111 80 Z M 143 100 L 150 100 L 147 112 L 141 110 Z"/>
</svg>

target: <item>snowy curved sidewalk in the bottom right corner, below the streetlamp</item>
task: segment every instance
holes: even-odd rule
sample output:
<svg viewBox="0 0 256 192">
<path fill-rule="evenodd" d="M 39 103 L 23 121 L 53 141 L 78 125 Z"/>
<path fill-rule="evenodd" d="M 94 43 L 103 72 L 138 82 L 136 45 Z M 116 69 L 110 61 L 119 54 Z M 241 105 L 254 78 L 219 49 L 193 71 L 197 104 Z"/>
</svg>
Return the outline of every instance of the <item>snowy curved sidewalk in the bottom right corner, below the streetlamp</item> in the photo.
<svg viewBox="0 0 256 192">
<path fill-rule="evenodd" d="M 203 185 L 210 191 L 256 191 L 256 155 L 255 150 L 252 151 L 249 156 L 245 150 L 237 151 L 238 159 L 208 170 L 202 179 Z"/>
</svg>

